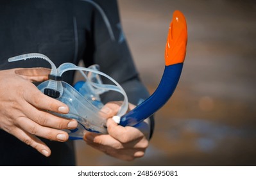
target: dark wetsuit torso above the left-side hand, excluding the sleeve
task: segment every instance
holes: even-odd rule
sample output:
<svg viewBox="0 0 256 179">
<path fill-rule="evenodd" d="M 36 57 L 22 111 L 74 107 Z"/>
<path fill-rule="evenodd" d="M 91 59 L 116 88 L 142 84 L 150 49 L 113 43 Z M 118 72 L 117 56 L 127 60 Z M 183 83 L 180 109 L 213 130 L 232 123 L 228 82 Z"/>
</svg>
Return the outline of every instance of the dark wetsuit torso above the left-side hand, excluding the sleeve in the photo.
<svg viewBox="0 0 256 179">
<path fill-rule="evenodd" d="M 28 0 L 1 1 L 0 70 L 47 67 L 42 59 L 9 63 L 8 58 L 26 53 L 41 53 L 58 67 L 78 64 L 90 39 L 93 6 L 83 1 Z M 73 72 L 66 81 L 72 83 Z"/>
</svg>

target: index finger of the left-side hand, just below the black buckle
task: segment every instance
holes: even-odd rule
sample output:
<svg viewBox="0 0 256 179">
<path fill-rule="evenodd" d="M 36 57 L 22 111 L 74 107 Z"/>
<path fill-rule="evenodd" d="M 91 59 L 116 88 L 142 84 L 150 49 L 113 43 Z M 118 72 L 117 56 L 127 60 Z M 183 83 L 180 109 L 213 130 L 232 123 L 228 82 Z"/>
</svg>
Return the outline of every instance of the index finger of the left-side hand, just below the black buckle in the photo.
<svg viewBox="0 0 256 179">
<path fill-rule="evenodd" d="M 31 105 L 39 109 L 44 109 L 47 111 L 53 111 L 56 113 L 69 113 L 69 107 L 63 102 L 55 100 L 51 97 L 44 95 L 41 91 L 34 86 L 35 90 L 24 91 L 23 97 Z"/>
</svg>

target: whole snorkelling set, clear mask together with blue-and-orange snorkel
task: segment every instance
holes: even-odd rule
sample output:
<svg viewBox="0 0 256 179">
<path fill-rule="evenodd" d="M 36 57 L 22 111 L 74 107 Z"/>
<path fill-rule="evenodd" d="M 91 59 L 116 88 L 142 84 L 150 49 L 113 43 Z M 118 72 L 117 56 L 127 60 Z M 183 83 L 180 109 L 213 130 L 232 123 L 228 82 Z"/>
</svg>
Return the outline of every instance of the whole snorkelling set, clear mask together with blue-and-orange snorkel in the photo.
<svg viewBox="0 0 256 179">
<path fill-rule="evenodd" d="M 43 54 L 31 53 L 9 58 L 9 62 L 26 59 L 44 59 L 51 64 L 49 80 L 42 82 L 37 88 L 45 95 L 56 98 L 69 106 L 68 114 L 53 113 L 63 118 L 73 118 L 78 121 L 74 130 L 65 130 L 69 139 L 83 139 L 86 131 L 107 134 L 107 114 L 101 111 L 104 104 L 100 95 L 107 91 L 117 91 L 124 97 L 116 116 L 113 120 L 121 126 L 135 126 L 158 111 L 171 98 L 180 79 L 187 45 L 187 24 L 184 15 L 175 11 L 173 20 L 169 25 L 167 35 L 165 59 L 166 66 L 158 88 L 142 104 L 137 105 L 132 111 L 128 110 L 128 98 L 118 82 L 112 77 L 100 72 L 97 65 L 89 68 L 76 66 L 73 63 L 63 63 L 56 68 L 55 64 Z M 86 82 L 78 82 L 74 88 L 63 81 L 62 74 L 69 70 L 78 70 Z M 103 84 L 101 76 L 106 77 L 113 84 Z"/>
</svg>

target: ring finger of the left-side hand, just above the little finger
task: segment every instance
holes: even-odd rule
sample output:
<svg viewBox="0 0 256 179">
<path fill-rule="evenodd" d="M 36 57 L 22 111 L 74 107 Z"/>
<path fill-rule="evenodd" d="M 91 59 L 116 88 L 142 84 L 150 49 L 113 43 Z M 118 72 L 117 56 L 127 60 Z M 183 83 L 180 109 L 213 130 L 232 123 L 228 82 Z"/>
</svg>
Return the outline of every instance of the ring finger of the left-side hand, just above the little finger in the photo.
<svg viewBox="0 0 256 179">
<path fill-rule="evenodd" d="M 69 139 L 67 132 L 49 127 L 42 127 L 26 117 L 17 119 L 19 127 L 35 136 L 43 137 L 51 141 L 65 142 Z"/>
</svg>

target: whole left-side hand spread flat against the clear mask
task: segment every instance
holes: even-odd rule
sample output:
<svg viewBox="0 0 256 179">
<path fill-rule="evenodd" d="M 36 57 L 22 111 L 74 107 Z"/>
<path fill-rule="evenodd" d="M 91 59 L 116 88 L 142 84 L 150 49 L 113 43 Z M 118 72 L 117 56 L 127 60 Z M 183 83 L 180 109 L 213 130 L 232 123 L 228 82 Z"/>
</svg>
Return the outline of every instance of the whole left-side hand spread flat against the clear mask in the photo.
<svg viewBox="0 0 256 179">
<path fill-rule="evenodd" d="M 0 71 L 0 129 L 32 146 L 46 157 L 49 147 L 38 137 L 67 141 L 60 129 L 76 128 L 76 120 L 60 118 L 47 111 L 68 113 L 64 103 L 47 97 L 32 82 L 45 81 L 46 68 L 14 68 Z M 38 137 L 37 137 L 38 136 Z"/>
</svg>

